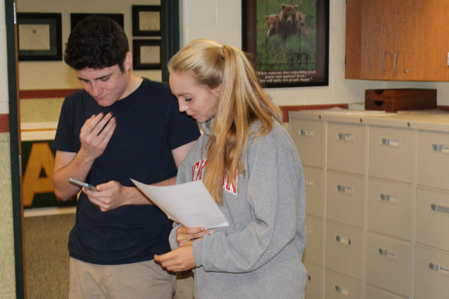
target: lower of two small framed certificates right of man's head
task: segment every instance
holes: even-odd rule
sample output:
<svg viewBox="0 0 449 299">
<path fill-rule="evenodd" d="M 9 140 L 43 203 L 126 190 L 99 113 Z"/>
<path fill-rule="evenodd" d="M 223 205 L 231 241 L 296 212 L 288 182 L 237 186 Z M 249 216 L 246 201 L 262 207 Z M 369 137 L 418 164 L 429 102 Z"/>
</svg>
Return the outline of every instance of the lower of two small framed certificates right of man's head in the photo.
<svg viewBox="0 0 449 299">
<path fill-rule="evenodd" d="M 161 69 L 160 39 L 133 39 L 133 69 Z"/>
</svg>

